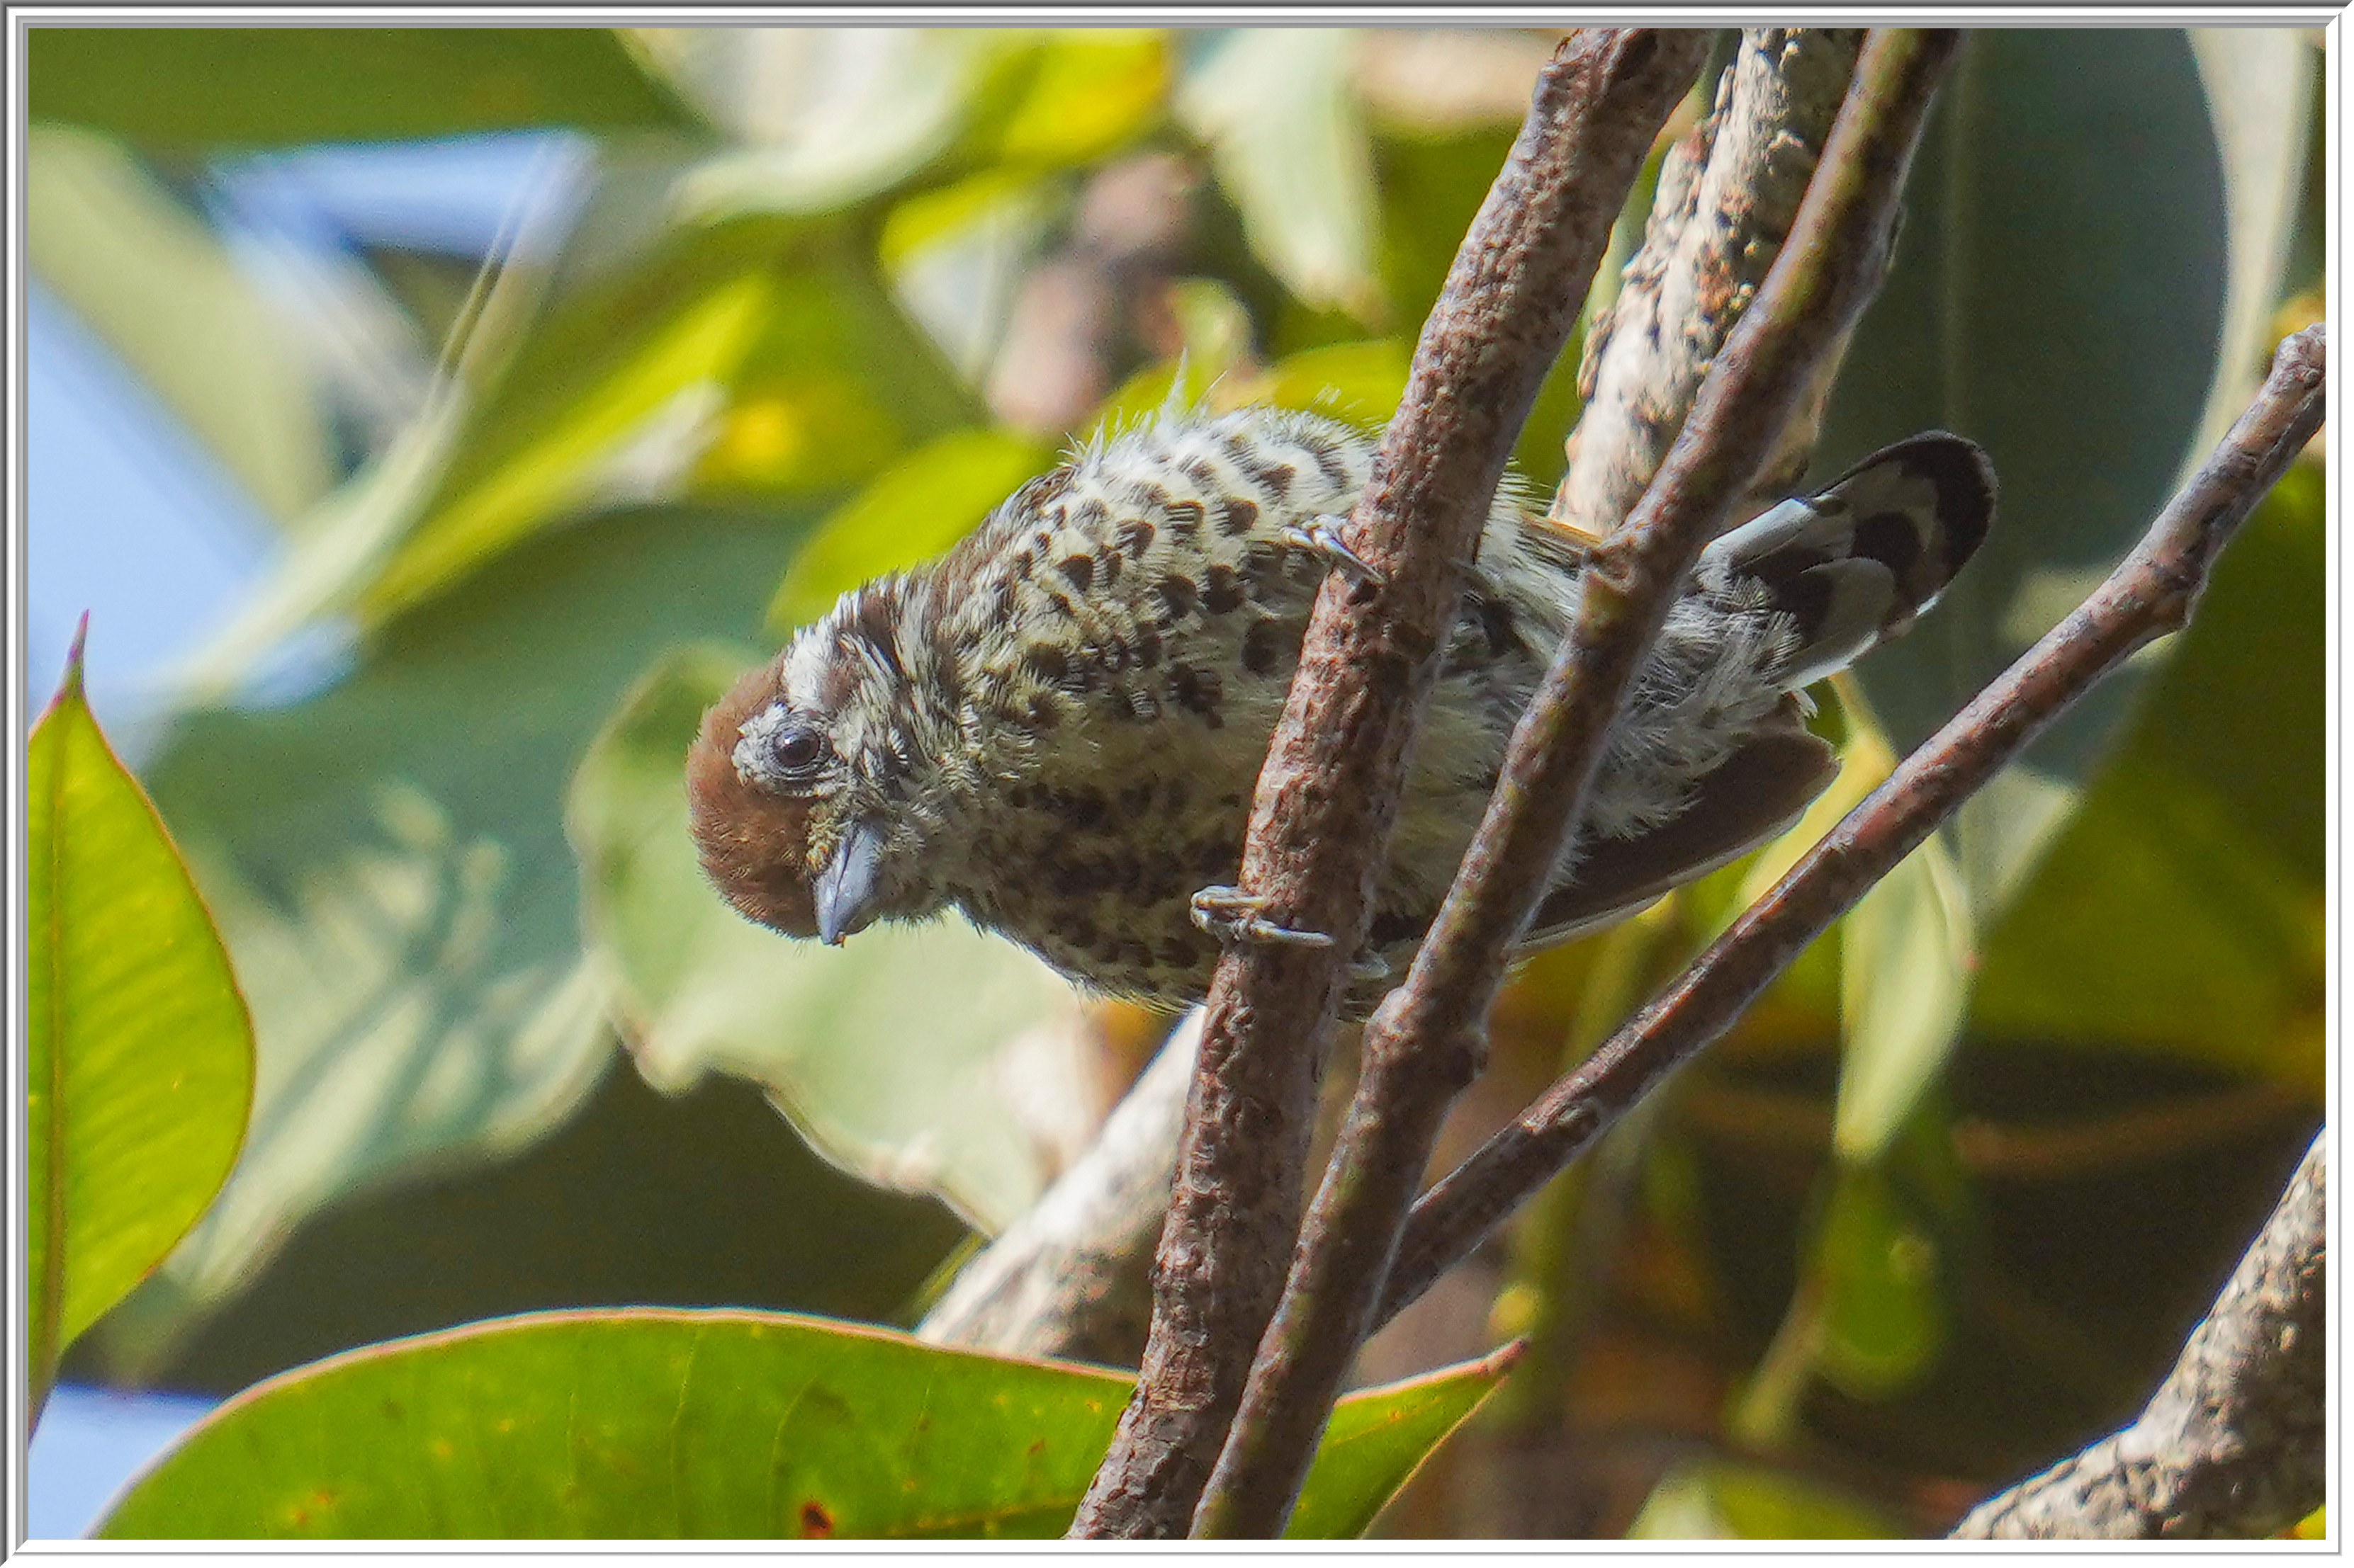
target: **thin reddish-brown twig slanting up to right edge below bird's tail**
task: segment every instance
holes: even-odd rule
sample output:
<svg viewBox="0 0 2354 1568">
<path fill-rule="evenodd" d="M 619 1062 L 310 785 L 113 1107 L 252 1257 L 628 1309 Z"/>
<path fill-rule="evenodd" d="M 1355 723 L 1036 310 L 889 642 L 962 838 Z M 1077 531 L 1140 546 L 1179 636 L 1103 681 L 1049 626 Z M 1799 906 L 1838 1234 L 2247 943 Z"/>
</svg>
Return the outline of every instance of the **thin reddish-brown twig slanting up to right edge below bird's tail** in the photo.
<svg viewBox="0 0 2354 1568">
<path fill-rule="evenodd" d="M 2215 556 L 2321 428 L 2326 356 L 2323 327 L 2288 337 L 2255 403 L 2090 598 L 1904 758 L 1676 984 L 1415 1205 L 1379 1321 L 1422 1295 L 1629 1104 L 1721 1036 L 1808 942 L 2053 718 L 2135 647 L 2189 622 Z"/>
</svg>

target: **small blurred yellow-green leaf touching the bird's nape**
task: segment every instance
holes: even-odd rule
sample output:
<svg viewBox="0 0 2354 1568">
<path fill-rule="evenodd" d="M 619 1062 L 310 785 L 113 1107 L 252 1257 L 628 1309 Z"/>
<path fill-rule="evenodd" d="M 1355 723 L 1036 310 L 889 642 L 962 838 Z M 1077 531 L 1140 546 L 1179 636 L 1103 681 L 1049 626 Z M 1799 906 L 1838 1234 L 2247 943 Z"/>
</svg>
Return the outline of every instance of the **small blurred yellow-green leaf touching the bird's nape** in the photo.
<svg viewBox="0 0 2354 1568">
<path fill-rule="evenodd" d="M 845 591 L 930 560 L 1052 461 L 1012 431 L 949 431 L 885 469 L 819 523 L 767 605 L 777 633 L 814 622 Z"/>
</svg>

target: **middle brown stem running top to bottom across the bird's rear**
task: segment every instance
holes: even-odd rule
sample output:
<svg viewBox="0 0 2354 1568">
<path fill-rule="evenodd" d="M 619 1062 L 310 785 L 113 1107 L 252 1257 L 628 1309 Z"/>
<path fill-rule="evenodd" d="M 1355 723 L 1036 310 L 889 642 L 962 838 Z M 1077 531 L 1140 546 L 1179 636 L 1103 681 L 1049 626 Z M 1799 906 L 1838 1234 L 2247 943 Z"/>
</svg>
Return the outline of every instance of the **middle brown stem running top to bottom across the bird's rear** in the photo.
<svg viewBox="0 0 2354 1568">
<path fill-rule="evenodd" d="M 1643 501 L 1594 551 L 1577 619 L 1514 730 L 1488 817 L 1405 984 L 1365 1029 L 1363 1078 L 1198 1535 L 1276 1535 L 1290 1516 L 1372 1328 L 1438 1123 L 1485 1057 L 1511 942 L 1554 881 L 1610 720 L 1693 560 L 1773 452 L 1820 358 L 1878 290 L 1904 170 L 1959 45 L 1959 33 L 1874 33 L 1789 245 Z"/>
</svg>

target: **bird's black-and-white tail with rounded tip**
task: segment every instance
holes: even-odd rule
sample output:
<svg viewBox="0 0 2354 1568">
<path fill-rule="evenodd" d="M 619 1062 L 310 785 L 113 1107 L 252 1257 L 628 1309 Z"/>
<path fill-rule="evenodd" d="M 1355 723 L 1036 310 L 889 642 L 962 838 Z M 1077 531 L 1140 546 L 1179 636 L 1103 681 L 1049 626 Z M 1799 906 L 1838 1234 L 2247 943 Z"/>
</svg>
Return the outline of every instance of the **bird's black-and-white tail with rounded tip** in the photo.
<svg viewBox="0 0 2354 1568">
<path fill-rule="evenodd" d="M 1798 690 L 1911 626 L 1991 520 L 1987 452 L 1928 431 L 1742 523 L 1702 551 L 1695 577 L 1747 600 L 1763 584 L 1768 607 L 1798 626 L 1777 671 L 1782 690 Z"/>
</svg>

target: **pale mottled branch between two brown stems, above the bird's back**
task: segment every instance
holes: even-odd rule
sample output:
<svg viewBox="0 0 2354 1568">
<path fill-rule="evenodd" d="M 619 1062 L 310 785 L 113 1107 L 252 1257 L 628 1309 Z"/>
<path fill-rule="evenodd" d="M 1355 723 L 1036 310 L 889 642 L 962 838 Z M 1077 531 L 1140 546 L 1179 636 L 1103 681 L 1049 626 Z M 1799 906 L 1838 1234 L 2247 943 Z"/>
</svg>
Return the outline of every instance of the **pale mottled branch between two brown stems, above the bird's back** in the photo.
<svg viewBox="0 0 2354 1568">
<path fill-rule="evenodd" d="M 1563 527 L 1608 534 L 1643 499 L 1709 365 L 1798 221 L 1862 42 L 1862 28 L 1744 28 L 1714 111 L 1669 148 L 1643 250 L 1587 334 L 1577 370 L 1584 410 L 1549 511 Z M 1824 360 L 1836 365 L 1838 353 Z M 1796 450 L 1777 452 L 1751 494 L 1789 492 L 1813 452 L 1820 412 L 1815 398 L 1794 419 L 1798 440 L 1787 447 Z M 1751 511 L 1749 499 L 1735 511 Z"/>
</svg>

